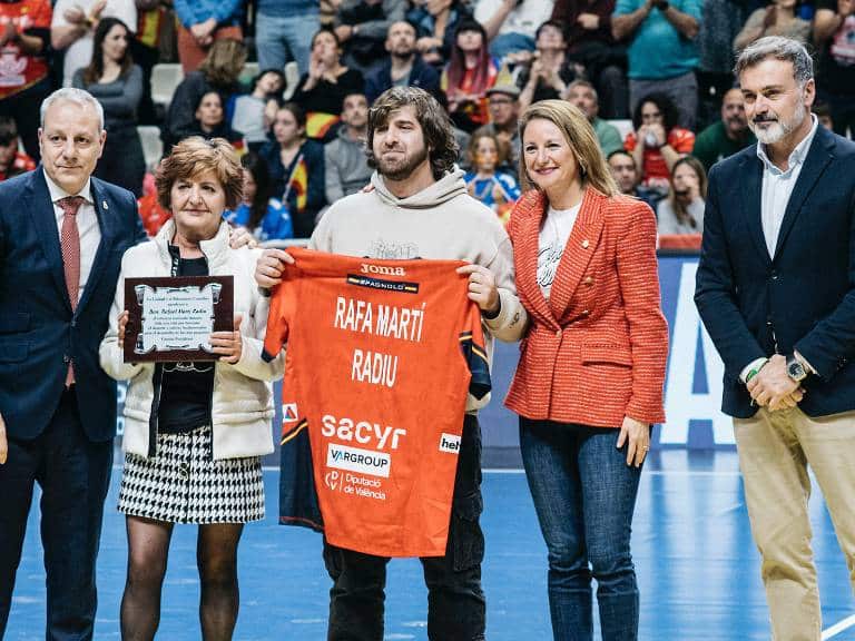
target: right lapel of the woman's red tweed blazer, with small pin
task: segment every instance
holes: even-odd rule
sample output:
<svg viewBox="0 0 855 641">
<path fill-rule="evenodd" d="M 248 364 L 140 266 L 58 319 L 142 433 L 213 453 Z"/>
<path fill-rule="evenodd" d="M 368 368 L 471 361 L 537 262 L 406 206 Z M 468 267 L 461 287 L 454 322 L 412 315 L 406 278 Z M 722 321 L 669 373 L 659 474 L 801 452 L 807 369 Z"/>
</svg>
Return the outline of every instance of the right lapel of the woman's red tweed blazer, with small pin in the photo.
<svg viewBox="0 0 855 641">
<path fill-rule="evenodd" d="M 599 245 L 605 225 L 603 200 L 606 200 L 606 196 L 592 187 L 584 190 L 582 206 L 579 209 L 573 230 L 567 239 L 549 297 L 550 312 L 558 319 L 561 318 L 570 304 L 570 299 Z"/>
</svg>

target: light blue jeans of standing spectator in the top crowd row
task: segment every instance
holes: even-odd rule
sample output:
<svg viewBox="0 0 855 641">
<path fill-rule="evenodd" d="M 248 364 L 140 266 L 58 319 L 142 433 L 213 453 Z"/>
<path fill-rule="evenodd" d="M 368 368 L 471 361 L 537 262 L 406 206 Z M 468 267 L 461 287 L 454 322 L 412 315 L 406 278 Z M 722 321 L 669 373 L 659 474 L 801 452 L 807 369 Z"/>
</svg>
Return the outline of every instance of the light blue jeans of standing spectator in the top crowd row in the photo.
<svg viewBox="0 0 855 641">
<path fill-rule="evenodd" d="M 255 26 L 255 49 L 258 69 L 283 70 L 295 60 L 301 75 L 308 71 L 312 36 L 321 28 L 317 13 L 283 18 L 258 13 Z"/>
</svg>

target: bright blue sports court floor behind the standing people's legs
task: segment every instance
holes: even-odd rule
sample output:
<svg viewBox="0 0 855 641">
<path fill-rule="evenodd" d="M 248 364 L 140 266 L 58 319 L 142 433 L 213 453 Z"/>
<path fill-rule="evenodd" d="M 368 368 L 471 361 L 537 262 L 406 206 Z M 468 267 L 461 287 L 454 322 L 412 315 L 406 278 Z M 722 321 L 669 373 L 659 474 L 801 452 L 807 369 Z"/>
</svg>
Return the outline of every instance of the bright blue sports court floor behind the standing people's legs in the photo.
<svg viewBox="0 0 855 641">
<path fill-rule="evenodd" d="M 240 548 L 240 615 L 235 639 L 322 641 L 330 582 L 321 539 L 276 524 L 278 474 L 265 473 L 268 519 L 245 530 Z M 124 517 L 115 509 L 119 471 L 108 497 L 98 581 L 96 639 L 118 639 L 125 579 Z M 483 565 L 490 641 L 551 639 L 546 550 L 525 477 L 484 474 L 487 559 Z M 855 640 L 855 600 L 818 489 L 810 503 L 819 569 L 823 639 Z M 30 519 L 18 574 L 9 641 L 43 639 L 45 588 L 37 510 Z M 199 639 L 194 526 L 173 539 L 159 639 Z M 748 641 L 769 638 L 766 607 L 733 451 L 651 454 L 641 482 L 633 530 L 641 589 L 641 633 L 655 641 Z M 426 639 L 417 561 L 390 565 L 386 639 Z"/>
</svg>

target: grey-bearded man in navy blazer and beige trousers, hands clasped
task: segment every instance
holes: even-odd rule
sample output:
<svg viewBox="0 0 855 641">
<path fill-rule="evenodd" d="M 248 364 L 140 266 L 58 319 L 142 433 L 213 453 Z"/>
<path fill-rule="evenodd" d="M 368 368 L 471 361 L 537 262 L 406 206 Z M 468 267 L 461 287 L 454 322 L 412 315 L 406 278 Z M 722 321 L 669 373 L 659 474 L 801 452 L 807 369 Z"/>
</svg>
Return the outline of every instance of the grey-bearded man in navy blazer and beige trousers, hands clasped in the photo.
<svg viewBox="0 0 855 641">
<path fill-rule="evenodd" d="M 695 300 L 725 363 L 773 635 L 818 641 L 808 465 L 855 581 L 855 144 L 810 114 L 800 43 L 763 38 L 736 72 L 758 144 L 709 174 Z"/>
</svg>

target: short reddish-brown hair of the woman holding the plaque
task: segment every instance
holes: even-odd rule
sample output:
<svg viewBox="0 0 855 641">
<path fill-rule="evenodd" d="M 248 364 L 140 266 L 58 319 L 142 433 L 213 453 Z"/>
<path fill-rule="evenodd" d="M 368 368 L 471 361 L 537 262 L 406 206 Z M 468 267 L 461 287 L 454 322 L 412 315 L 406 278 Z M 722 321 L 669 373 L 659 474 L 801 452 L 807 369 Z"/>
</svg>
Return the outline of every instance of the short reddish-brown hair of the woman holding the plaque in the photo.
<svg viewBox="0 0 855 641">
<path fill-rule="evenodd" d="M 226 195 L 226 207 L 234 209 L 244 190 L 244 169 L 232 145 L 225 138 L 205 140 L 190 136 L 173 147 L 173 152 L 160 161 L 155 174 L 157 201 L 171 210 L 170 194 L 177 180 L 189 180 L 213 171 Z"/>
</svg>

